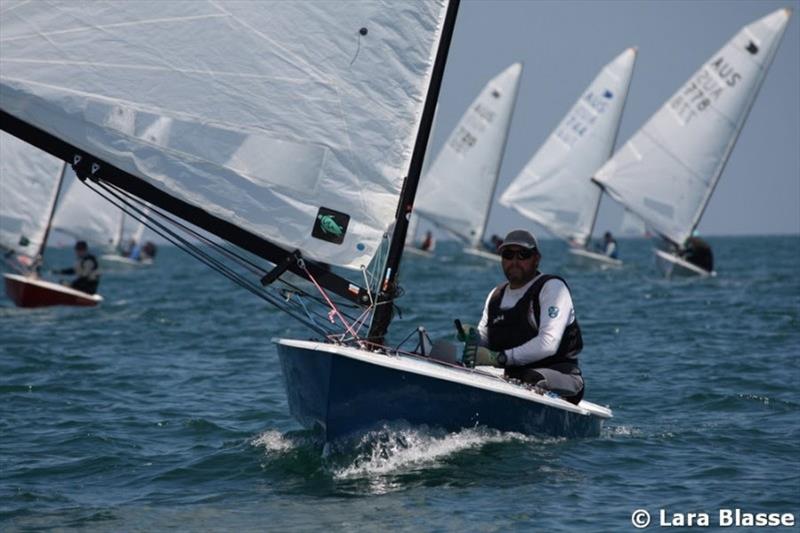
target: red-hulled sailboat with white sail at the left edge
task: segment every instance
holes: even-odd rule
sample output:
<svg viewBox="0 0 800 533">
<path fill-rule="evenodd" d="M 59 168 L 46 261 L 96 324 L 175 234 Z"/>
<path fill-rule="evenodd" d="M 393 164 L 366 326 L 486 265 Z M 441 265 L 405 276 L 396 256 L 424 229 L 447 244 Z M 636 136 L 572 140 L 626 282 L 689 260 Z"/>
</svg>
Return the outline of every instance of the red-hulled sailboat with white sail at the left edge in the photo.
<svg viewBox="0 0 800 533">
<path fill-rule="evenodd" d="M 0 132 L 0 248 L 8 297 L 18 307 L 97 305 L 103 298 L 39 277 L 44 250 L 67 165 Z"/>
</svg>

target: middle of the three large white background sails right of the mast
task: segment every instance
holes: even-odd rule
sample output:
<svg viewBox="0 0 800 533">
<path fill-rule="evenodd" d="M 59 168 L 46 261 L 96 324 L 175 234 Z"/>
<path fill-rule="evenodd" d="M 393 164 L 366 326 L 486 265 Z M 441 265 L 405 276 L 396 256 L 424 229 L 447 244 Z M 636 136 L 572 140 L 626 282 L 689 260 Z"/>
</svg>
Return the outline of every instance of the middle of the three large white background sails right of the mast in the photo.
<svg viewBox="0 0 800 533">
<path fill-rule="evenodd" d="M 602 191 L 590 179 L 611 156 L 636 50 L 607 64 L 500 197 L 500 204 L 576 246 L 592 234 Z"/>
</svg>

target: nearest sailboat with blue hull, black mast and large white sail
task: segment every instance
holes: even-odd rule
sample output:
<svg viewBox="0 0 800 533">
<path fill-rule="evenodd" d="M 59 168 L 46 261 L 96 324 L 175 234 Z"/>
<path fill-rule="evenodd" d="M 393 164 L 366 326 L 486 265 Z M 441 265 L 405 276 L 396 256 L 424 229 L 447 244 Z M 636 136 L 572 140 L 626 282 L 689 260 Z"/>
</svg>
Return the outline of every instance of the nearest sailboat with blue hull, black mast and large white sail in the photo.
<svg viewBox="0 0 800 533">
<path fill-rule="evenodd" d="M 0 125 L 305 325 L 275 340 L 303 425 L 599 435 L 607 408 L 386 341 L 457 1 L 108 5 L 4 11 Z"/>
</svg>

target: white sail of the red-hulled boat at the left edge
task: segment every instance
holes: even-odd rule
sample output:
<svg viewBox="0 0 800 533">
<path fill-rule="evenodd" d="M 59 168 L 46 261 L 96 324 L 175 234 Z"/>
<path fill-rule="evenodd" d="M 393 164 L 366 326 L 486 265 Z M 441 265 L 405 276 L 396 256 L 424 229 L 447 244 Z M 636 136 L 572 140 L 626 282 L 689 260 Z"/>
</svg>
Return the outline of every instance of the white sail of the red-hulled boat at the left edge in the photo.
<svg viewBox="0 0 800 533">
<path fill-rule="evenodd" d="M 58 194 L 63 161 L 0 132 L 0 249 L 36 259 Z"/>
</svg>

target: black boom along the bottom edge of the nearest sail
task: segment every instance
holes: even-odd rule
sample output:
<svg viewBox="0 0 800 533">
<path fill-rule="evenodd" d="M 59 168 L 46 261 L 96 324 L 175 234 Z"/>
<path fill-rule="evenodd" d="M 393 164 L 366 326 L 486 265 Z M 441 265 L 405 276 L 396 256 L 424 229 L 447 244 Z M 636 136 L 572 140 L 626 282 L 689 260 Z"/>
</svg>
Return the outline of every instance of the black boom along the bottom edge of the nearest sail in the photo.
<svg viewBox="0 0 800 533">
<path fill-rule="evenodd" d="M 266 239 L 255 235 L 222 218 L 214 216 L 199 207 L 184 202 L 174 196 L 150 185 L 142 178 L 111 165 L 72 144 L 59 139 L 55 135 L 29 124 L 0 109 L 0 128 L 22 139 L 23 141 L 48 152 L 71 165 L 80 179 L 102 180 L 130 194 L 141 198 L 165 211 L 168 211 L 195 226 L 202 228 L 226 241 L 239 246 L 259 257 L 279 264 L 293 250 L 285 250 Z M 345 278 L 338 276 L 312 261 L 306 261 L 306 268 L 320 285 L 331 292 L 361 305 L 369 304 L 369 294 Z M 305 271 L 296 262 L 288 269 L 298 276 L 307 278 Z"/>
</svg>

